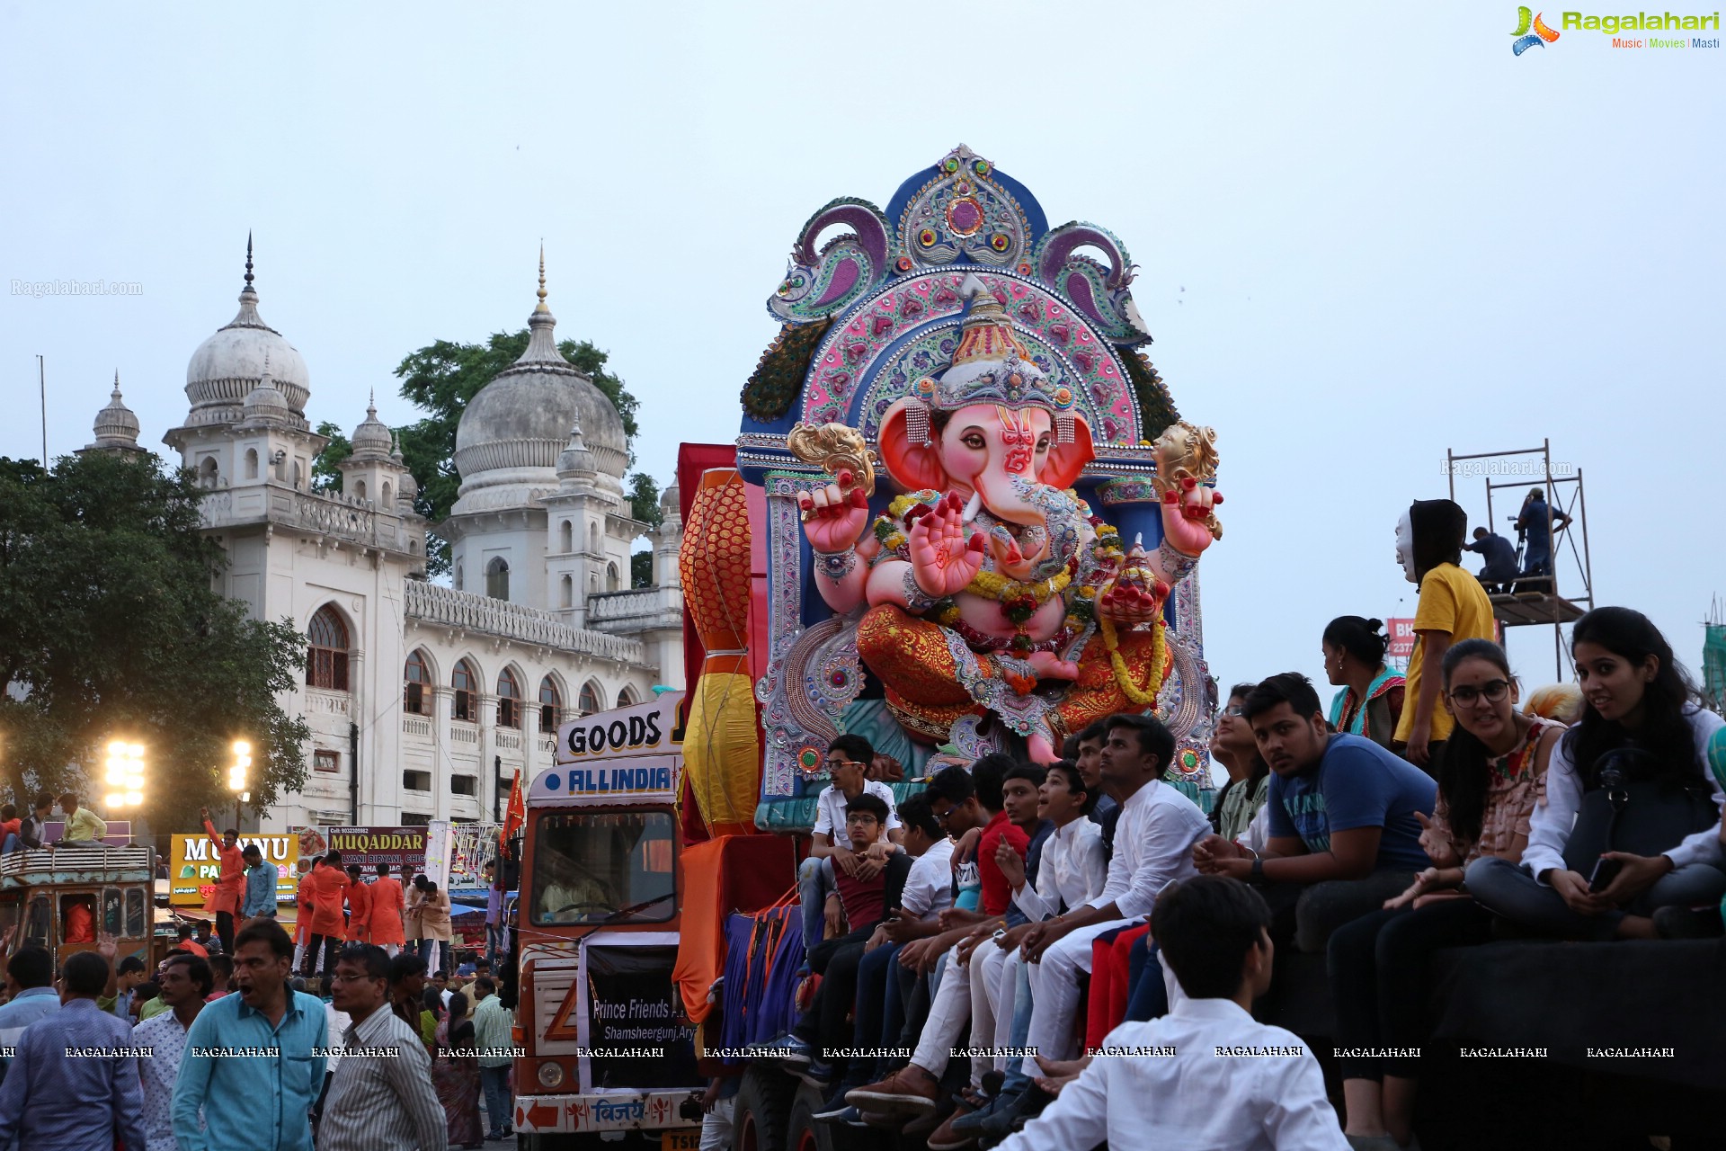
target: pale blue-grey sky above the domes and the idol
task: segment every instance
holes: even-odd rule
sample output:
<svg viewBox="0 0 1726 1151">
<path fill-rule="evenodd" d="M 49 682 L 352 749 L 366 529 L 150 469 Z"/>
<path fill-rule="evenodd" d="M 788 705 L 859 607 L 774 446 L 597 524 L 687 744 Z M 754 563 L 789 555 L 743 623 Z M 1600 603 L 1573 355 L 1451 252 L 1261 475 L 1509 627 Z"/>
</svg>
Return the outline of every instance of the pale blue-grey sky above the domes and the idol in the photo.
<svg viewBox="0 0 1726 1151">
<path fill-rule="evenodd" d="M 116 371 L 166 450 L 247 231 L 312 423 L 352 428 L 371 390 L 409 423 L 395 364 L 521 328 L 544 240 L 557 331 L 609 350 L 665 485 L 678 442 L 734 435 L 809 214 L 885 205 L 963 142 L 1139 266 L 1150 355 L 1219 433 L 1200 578 L 1224 683 L 1322 687 L 1326 621 L 1414 614 L 1393 530 L 1446 495 L 1446 450 L 1543 442 L 1583 473 L 1595 602 L 1647 611 L 1695 668 L 1726 592 L 1726 50 L 1562 31 L 1517 57 L 1515 22 L 1496 2 L 9 2 L 0 456 L 41 452 L 38 354 L 50 456 L 91 438 Z M 136 292 L 17 286 L 57 280 Z M 1457 499 L 1484 523 L 1479 476 Z M 1510 654 L 1557 676 L 1550 628 Z"/>
</svg>

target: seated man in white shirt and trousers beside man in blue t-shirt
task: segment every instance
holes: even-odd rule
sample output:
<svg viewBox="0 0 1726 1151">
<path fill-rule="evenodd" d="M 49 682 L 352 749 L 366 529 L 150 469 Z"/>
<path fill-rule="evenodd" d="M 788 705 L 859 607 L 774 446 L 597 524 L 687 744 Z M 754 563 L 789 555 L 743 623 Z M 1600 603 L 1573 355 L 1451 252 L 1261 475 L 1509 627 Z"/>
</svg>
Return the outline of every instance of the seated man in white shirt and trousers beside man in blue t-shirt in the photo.
<svg viewBox="0 0 1726 1151">
<path fill-rule="evenodd" d="M 1156 778 L 1174 752 L 1174 735 L 1156 720 L 1108 718 L 1103 782 L 1122 797 L 1108 880 L 1091 901 L 1034 925 L 1020 944 L 1030 965 L 1027 1042 L 1049 1060 L 1077 1054 L 1079 973 L 1091 972 L 1091 940 L 1110 928 L 1141 923 L 1163 887 L 1196 873 L 1193 844 L 1210 832 L 1210 821 L 1198 804 Z M 1039 1073 L 1034 1056 L 1025 1058 L 1024 1072 Z M 1037 1098 L 1024 1094 L 1032 1104 Z"/>
</svg>

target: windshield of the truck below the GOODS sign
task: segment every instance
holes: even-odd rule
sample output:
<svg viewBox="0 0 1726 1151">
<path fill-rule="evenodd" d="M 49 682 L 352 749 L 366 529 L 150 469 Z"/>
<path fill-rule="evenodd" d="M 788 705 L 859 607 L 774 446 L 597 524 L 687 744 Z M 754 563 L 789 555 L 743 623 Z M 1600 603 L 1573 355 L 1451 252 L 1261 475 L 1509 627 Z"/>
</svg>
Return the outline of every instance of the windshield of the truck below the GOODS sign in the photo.
<svg viewBox="0 0 1726 1151">
<path fill-rule="evenodd" d="M 532 923 L 663 923 L 677 915 L 670 811 L 547 811 L 533 835 Z"/>
</svg>

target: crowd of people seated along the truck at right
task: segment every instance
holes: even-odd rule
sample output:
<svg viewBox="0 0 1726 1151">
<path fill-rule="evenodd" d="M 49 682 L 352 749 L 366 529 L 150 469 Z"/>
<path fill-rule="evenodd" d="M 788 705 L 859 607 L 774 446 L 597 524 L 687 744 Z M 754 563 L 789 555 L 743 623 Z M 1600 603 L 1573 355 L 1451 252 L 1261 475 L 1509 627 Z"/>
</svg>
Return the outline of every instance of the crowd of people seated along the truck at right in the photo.
<svg viewBox="0 0 1726 1151">
<path fill-rule="evenodd" d="M 1726 723 L 1628 607 L 1576 623 L 1574 687 L 1524 699 L 1465 528 L 1450 500 L 1398 528 L 1405 675 L 1381 621 L 1345 616 L 1322 633 L 1329 708 L 1298 673 L 1229 692 L 1208 815 L 1150 716 L 1099 720 L 1053 764 L 946 766 L 898 806 L 870 744 L 835 739 L 799 871 L 820 978 L 768 1049 L 823 1092 L 815 1118 L 932 1151 L 1400 1151 L 1436 951 L 1719 935 Z M 1365 1053 L 1339 1061 L 1341 1108 L 1303 1041 L 1251 1016 L 1288 947 L 1326 956 L 1338 1046 Z M 734 1094 L 711 1084 L 704 1146 Z"/>
</svg>

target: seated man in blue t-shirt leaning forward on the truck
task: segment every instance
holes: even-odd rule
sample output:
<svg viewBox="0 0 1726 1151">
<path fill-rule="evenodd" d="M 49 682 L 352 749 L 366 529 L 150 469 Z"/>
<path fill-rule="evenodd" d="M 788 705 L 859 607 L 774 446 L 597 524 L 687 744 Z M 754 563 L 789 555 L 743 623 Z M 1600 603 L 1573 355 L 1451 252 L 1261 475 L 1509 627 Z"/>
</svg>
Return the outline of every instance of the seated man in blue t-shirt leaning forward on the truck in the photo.
<svg viewBox="0 0 1726 1151">
<path fill-rule="evenodd" d="M 1270 764 L 1269 842 L 1258 856 L 1220 835 L 1193 847 L 1200 871 L 1265 885 L 1272 935 L 1322 953 L 1331 932 L 1407 890 L 1431 866 L 1415 813 L 1438 785 L 1372 740 L 1332 735 L 1307 676 L 1286 671 L 1241 708 Z"/>
</svg>

